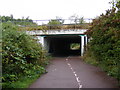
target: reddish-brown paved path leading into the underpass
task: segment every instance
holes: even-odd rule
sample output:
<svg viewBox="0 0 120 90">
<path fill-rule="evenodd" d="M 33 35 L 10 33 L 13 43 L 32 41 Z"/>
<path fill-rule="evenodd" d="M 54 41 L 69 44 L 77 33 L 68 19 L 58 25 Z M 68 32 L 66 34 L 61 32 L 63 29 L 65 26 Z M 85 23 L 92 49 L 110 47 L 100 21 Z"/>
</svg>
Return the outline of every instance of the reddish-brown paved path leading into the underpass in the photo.
<svg viewBox="0 0 120 90">
<path fill-rule="evenodd" d="M 115 88 L 117 81 L 79 56 L 54 57 L 30 88 Z"/>
</svg>

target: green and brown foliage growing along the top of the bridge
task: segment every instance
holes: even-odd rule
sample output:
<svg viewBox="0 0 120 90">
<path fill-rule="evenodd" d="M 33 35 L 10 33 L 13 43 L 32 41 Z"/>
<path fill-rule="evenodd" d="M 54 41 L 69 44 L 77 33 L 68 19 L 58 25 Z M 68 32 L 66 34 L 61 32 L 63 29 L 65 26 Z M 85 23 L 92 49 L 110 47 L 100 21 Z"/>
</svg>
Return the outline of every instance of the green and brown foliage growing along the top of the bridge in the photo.
<svg viewBox="0 0 120 90">
<path fill-rule="evenodd" d="M 33 31 L 33 30 L 42 30 L 46 32 L 46 30 L 56 30 L 56 29 L 88 29 L 89 24 L 85 23 L 84 18 L 71 18 L 71 21 L 75 20 L 73 24 L 63 24 L 64 19 L 60 17 L 56 17 L 56 19 L 51 19 L 47 24 L 38 25 L 33 22 L 33 20 L 29 19 L 29 17 L 22 19 L 14 19 L 13 15 L 11 16 L 0 16 L 2 22 L 12 22 L 16 26 L 18 26 L 19 31 Z M 78 23 L 79 21 L 79 23 Z"/>
</svg>

